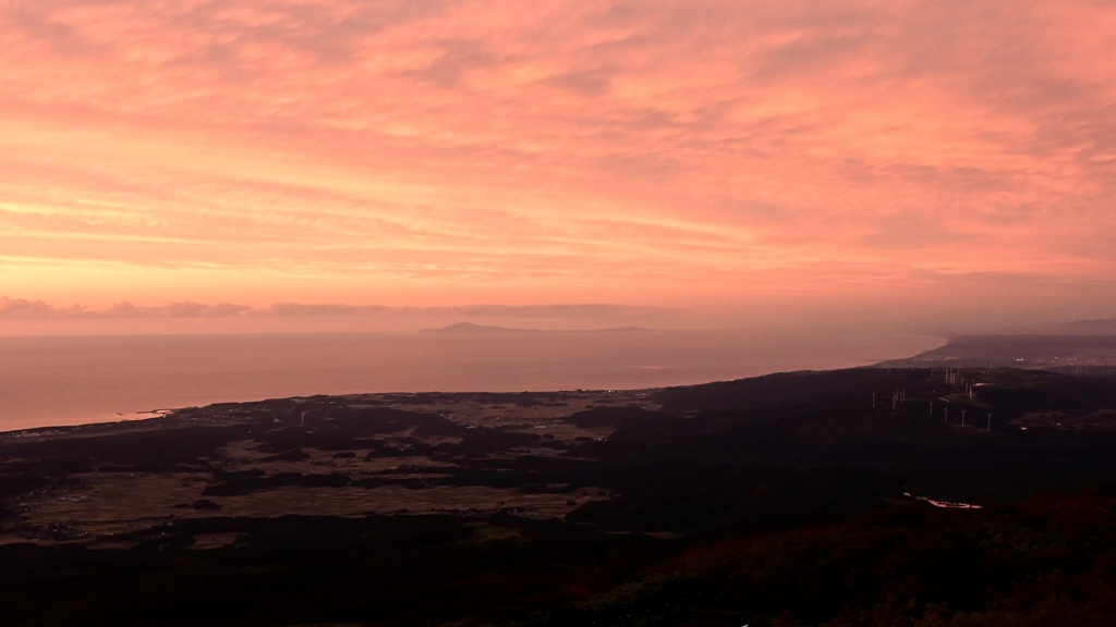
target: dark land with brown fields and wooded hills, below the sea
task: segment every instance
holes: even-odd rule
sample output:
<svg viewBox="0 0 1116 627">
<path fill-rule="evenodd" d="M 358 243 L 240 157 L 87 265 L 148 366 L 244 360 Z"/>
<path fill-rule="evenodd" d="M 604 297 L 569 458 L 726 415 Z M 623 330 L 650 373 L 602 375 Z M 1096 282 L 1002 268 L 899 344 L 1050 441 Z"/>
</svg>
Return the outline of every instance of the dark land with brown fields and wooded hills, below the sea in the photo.
<svg viewBox="0 0 1116 627">
<path fill-rule="evenodd" d="M 1103 379 L 906 367 L 6 434 L 0 607 L 19 625 L 1112 625 L 1114 418 Z"/>
</svg>

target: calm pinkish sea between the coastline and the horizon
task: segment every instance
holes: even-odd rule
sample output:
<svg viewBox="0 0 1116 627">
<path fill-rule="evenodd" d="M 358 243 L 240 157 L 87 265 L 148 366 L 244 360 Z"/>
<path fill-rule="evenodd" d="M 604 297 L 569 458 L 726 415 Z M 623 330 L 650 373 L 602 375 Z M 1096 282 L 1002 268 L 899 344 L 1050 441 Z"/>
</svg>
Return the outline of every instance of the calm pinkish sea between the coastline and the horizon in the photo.
<svg viewBox="0 0 1116 627">
<path fill-rule="evenodd" d="M 943 344 L 817 329 L 0 337 L 0 431 L 315 394 L 657 388 L 866 366 Z"/>
</svg>

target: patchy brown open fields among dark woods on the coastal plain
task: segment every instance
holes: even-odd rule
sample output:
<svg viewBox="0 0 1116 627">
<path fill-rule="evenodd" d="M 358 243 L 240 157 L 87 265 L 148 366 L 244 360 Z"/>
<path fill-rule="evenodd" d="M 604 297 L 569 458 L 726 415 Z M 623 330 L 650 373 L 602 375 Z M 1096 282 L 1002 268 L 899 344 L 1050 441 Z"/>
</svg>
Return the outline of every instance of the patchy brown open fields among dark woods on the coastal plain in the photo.
<svg viewBox="0 0 1116 627">
<path fill-rule="evenodd" d="M 512 511 L 527 517 L 560 519 L 581 503 L 605 499 L 608 490 L 595 485 L 446 485 L 441 483 L 471 459 L 516 461 L 520 457 L 560 456 L 576 442 L 598 441 L 615 427 L 584 426 L 569 416 L 597 406 L 655 409 L 646 392 L 562 393 L 556 395 L 358 395 L 331 397 L 325 404 L 299 399 L 283 408 L 219 406 L 184 409 L 150 421 L 38 430 L 0 434 L 2 443 L 36 444 L 37 448 L 66 441 L 80 444 L 112 436 L 153 436 L 151 440 L 189 437 L 198 427 L 235 430 L 260 438 L 221 442 L 192 463 L 146 470 L 119 470 L 121 460 L 90 460 L 66 480 L 20 495 L 12 502 L 21 525 L 0 532 L 0 543 L 54 542 L 95 539 L 93 546 L 122 546 L 116 537 L 166 521 L 205 518 L 220 512 L 231 517 L 277 517 L 314 512 L 321 515 L 360 517 L 373 513 L 449 512 L 481 515 Z M 264 405 L 264 407 L 267 407 Z M 348 435 L 315 442 L 314 434 L 330 431 L 330 412 L 372 412 L 395 419 L 360 428 Z M 261 419 L 270 412 L 270 419 Z M 442 431 L 422 432 L 410 414 L 439 423 Z M 478 431 L 480 430 L 480 431 Z M 426 431 L 430 431 L 429 428 Z M 469 432 L 492 431 L 522 436 L 518 446 L 482 448 L 477 457 L 451 454 Z M 333 430 L 343 433 L 344 430 Z M 453 433 L 446 435 L 443 433 Z M 290 442 L 277 444 L 268 434 Z M 463 435 L 462 435 L 463 434 Z M 513 435 L 511 437 L 514 438 Z M 304 442 L 305 440 L 305 442 Z M 471 440 L 477 440 L 472 437 Z M 345 446 L 341 446 L 345 444 Z M 11 464 L 33 464 L 36 457 L 9 459 Z M 156 464 L 157 466 L 157 464 Z M 116 469 L 116 470 L 114 470 Z M 221 492 L 229 478 L 257 484 Z M 310 479 L 307 479 L 310 478 Z M 268 483 L 268 480 L 278 480 Z M 225 480 L 222 483 L 222 480 Z M 231 480 L 235 481 L 235 480 Z"/>
</svg>

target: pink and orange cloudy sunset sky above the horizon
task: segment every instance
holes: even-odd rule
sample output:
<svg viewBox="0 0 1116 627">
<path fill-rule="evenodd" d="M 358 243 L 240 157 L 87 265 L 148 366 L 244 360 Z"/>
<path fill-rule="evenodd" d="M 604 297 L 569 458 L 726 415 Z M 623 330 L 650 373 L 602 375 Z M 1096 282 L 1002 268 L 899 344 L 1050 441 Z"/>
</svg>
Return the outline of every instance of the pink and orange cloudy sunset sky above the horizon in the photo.
<svg viewBox="0 0 1116 627">
<path fill-rule="evenodd" d="M 0 334 L 1116 317 L 1114 66 L 1085 0 L 0 0 Z"/>
</svg>

